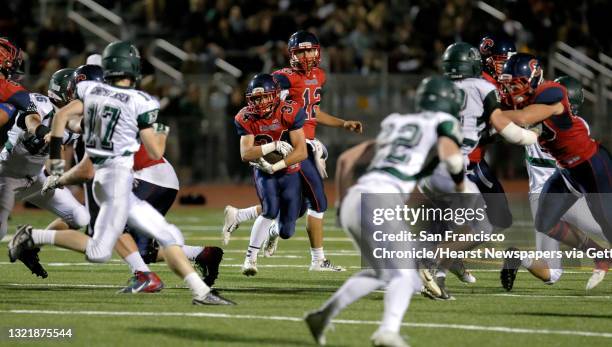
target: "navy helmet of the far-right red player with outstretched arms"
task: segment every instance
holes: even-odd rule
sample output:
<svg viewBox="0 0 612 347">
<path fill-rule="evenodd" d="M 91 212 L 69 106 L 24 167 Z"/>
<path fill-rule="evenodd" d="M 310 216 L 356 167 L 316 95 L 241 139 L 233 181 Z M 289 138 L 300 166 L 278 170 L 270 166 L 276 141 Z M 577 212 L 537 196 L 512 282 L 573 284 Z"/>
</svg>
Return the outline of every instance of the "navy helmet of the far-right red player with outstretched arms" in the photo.
<svg viewBox="0 0 612 347">
<path fill-rule="evenodd" d="M 509 106 L 522 108 L 544 81 L 542 64 L 534 55 L 517 53 L 506 61 L 498 80 L 506 94 L 503 99 Z"/>
</svg>

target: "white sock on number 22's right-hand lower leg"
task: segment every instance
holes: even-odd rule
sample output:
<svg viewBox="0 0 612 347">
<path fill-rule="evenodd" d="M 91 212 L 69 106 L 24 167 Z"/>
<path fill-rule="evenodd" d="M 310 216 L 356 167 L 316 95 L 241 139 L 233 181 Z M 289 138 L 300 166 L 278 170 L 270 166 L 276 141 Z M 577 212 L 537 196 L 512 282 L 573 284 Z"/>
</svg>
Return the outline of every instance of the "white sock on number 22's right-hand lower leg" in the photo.
<svg viewBox="0 0 612 347">
<path fill-rule="evenodd" d="M 413 280 L 415 276 L 401 275 L 389 282 L 385 292 L 385 309 L 380 330 L 399 333 L 404 314 L 414 293 Z"/>
</svg>

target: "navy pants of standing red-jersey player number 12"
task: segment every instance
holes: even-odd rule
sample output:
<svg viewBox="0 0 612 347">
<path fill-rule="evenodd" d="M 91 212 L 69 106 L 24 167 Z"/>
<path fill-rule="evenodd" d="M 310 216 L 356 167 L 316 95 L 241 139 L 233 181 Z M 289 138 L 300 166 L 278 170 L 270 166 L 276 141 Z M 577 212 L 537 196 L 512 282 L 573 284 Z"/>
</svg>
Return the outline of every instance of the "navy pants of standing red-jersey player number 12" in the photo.
<svg viewBox="0 0 612 347">
<path fill-rule="evenodd" d="M 310 146 L 308 148 L 308 158 L 300 163 L 300 176 L 302 178 L 302 191 L 308 202 L 308 208 L 316 212 L 327 210 L 327 197 L 323 188 L 323 178 L 317 170 L 314 154 Z"/>
</svg>

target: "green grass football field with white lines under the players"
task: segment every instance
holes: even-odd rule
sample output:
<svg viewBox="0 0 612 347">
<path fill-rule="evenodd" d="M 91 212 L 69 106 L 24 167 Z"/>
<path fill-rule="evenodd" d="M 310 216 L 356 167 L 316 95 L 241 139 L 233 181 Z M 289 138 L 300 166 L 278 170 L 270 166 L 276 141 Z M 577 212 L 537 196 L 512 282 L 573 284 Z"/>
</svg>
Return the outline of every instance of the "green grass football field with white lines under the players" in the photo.
<svg viewBox="0 0 612 347">
<path fill-rule="evenodd" d="M 344 233 L 326 220 L 328 258 L 346 266 L 344 273 L 310 273 L 303 220 L 289 241 L 281 241 L 274 258 L 260 258 L 259 274 L 240 273 L 250 225 L 242 225 L 225 249 L 217 287 L 238 303 L 231 307 L 194 307 L 190 292 L 164 264 L 152 269 L 164 280 L 158 294 L 115 294 L 129 277 L 119 259 L 88 264 L 81 254 L 45 247 L 41 261 L 49 272 L 36 278 L 21 263 L 0 260 L 0 346 L 62 343 L 79 346 L 312 346 L 301 318 L 322 304 L 352 273 L 359 256 Z M 175 209 L 169 215 L 188 244 L 220 245 L 222 211 Z M 42 227 L 45 212 L 13 216 L 10 233 L 20 223 Z M 6 252 L 6 242 L 0 244 Z M 588 269 L 567 269 L 560 282 L 546 286 L 520 272 L 506 293 L 496 271 L 476 271 L 477 283 L 449 277 L 457 300 L 440 302 L 413 297 L 402 334 L 413 346 L 610 346 L 612 281 L 588 295 Z M 331 346 L 367 346 L 381 319 L 383 293 L 358 301 L 337 317 L 327 334 Z M 69 340 L 7 338 L 15 327 L 71 328 Z M 63 342 L 62 342 L 63 341 Z"/>
</svg>

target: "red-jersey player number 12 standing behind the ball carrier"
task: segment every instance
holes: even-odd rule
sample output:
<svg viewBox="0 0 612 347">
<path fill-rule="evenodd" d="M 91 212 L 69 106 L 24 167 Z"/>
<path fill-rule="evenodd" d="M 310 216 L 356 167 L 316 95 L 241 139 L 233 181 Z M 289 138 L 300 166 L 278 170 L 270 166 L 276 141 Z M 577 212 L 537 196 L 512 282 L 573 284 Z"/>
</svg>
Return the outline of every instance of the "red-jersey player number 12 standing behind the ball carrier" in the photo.
<svg viewBox="0 0 612 347">
<path fill-rule="evenodd" d="M 325 159 L 327 150 L 315 138 L 317 124 L 336 128 L 344 128 L 356 133 L 362 132 L 362 125 L 357 121 L 345 121 L 334 117 L 319 108 L 322 88 L 325 85 L 325 71 L 320 67 L 321 46 L 319 39 L 307 31 L 295 32 L 289 38 L 290 67 L 277 70 L 272 75 L 279 81 L 283 99 L 290 99 L 306 113 L 304 134 L 308 143 L 308 160 L 301 164 L 300 177 L 303 181 L 303 193 L 308 201 L 308 217 L 306 231 L 310 238 L 311 271 L 344 271 L 341 266 L 332 264 L 323 252 L 323 215 L 327 210 L 327 197 L 323 189 L 325 172 Z M 261 206 L 252 206 L 246 209 L 236 209 L 232 206 L 226 208 L 225 223 L 223 227 L 224 239 L 228 240 L 230 233 L 239 223 L 255 218 Z M 271 229 L 270 238 L 266 241 L 264 254 L 271 255 L 276 249 L 278 233 L 276 228 Z"/>
</svg>

